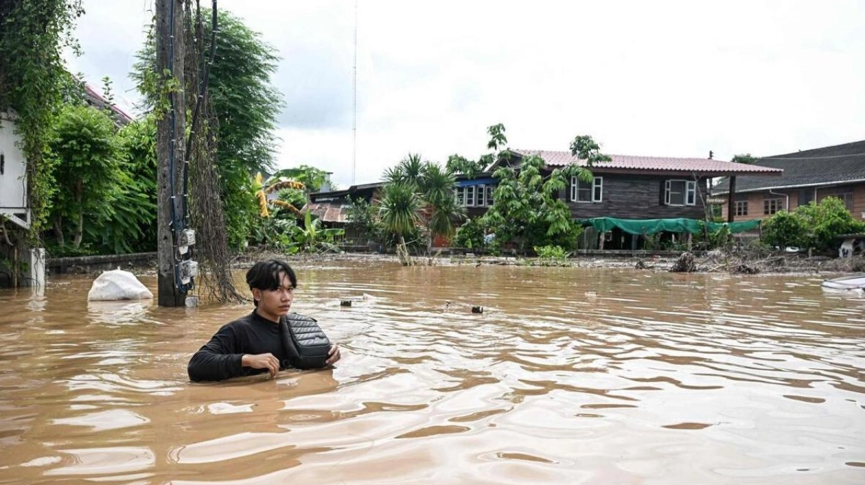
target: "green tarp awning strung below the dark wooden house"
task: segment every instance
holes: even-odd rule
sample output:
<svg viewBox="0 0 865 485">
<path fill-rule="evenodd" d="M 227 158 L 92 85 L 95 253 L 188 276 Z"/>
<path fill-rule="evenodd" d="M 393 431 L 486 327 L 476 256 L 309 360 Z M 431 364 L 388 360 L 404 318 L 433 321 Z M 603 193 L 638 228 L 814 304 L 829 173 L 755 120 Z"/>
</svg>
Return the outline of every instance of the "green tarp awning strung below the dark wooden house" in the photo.
<svg viewBox="0 0 865 485">
<path fill-rule="evenodd" d="M 696 219 L 616 219 L 613 217 L 595 217 L 593 219 L 578 220 L 583 226 L 591 226 L 599 233 L 612 231 L 618 227 L 625 233 L 630 234 L 654 234 L 654 233 L 702 233 L 706 226 L 710 233 L 714 233 L 727 226 L 731 233 L 744 233 L 753 231 L 759 227 L 759 219 L 743 220 L 741 222 L 707 222 Z"/>
</svg>

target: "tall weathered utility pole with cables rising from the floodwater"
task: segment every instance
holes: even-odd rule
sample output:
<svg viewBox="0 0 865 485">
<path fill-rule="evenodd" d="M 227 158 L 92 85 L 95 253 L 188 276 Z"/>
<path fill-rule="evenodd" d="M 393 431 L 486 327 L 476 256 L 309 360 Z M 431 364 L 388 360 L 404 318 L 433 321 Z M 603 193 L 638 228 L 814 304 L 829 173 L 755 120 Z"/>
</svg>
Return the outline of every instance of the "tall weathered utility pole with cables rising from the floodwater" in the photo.
<svg viewBox="0 0 865 485">
<path fill-rule="evenodd" d="M 171 222 L 182 218 L 180 189 L 183 182 L 184 133 L 186 99 L 183 90 L 183 0 L 156 0 L 157 14 L 157 75 L 170 70 L 174 87 L 168 109 L 157 120 L 157 239 L 159 253 L 159 306 L 177 307 L 186 304 L 186 295 L 177 290 L 175 278 L 176 250 Z M 173 116 L 172 116 L 173 114 Z M 173 130 L 172 130 L 173 128 Z M 172 132 L 173 131 L 173 132 Z M 173 207 L 172 207 L 173 204 Z"/>
</svg>

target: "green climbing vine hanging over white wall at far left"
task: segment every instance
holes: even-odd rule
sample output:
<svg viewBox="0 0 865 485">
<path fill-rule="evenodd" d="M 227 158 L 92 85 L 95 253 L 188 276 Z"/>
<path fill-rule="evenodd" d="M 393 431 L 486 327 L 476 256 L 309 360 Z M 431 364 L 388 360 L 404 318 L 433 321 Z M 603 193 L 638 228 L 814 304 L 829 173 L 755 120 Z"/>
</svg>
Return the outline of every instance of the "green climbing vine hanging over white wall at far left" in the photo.
<svg viewBox="0 0 865 485">
<path fill-rule="evenodd" d="M 78 52 L 72 29 L 83 13 L 81 0 L 0 0 L 0 112 L 17 115 L 34 240 L 48 220 L 54 190 L 46 134 L 71 78 L 61 51 Z"/>
</svg>

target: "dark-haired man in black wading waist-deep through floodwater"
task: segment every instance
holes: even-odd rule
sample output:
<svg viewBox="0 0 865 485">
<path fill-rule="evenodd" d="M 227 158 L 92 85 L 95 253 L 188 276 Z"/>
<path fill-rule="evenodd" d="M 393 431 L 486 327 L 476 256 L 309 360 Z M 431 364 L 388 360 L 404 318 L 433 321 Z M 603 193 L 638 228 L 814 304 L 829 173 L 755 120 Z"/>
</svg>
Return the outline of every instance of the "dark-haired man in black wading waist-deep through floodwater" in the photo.
<svg viewBox="0 0 865 485">
<path fill-rule="evenodd" d="M 255 309 L 247 316 L 223 325 L 189 360 L 190 380 L 226 380 L 257 373 L 276 373 L 300 367 L 280 333 L 280 319 L 292 308 L 298 277 L 284 261 L 259 261 L 247 271 Z M 339 361 L 339 347 L 330 347 L 326 365 Z"/>
</svg>

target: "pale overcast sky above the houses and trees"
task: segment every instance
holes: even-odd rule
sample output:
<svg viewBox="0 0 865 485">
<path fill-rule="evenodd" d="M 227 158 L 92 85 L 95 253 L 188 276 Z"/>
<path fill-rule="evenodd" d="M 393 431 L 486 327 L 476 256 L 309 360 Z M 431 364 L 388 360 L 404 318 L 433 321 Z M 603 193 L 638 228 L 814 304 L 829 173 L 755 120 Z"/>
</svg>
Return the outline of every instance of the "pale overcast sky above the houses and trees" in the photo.
<svg viewBox="0 0 865 485">
<path fill-rule="evenodd" d="M 722 160 L 865 138 L 865 2 L 357 3 L 356 183 L 408 153 L 476 158 L 497 123 L 517 149 L 586 134 L 606 153 Z M 279 168 L 349 185 L 355 0 L 218 5 L 282 59 Z M 84 7 L 67 61 L 128 107 L 153 0 Z"/>
</svg>

